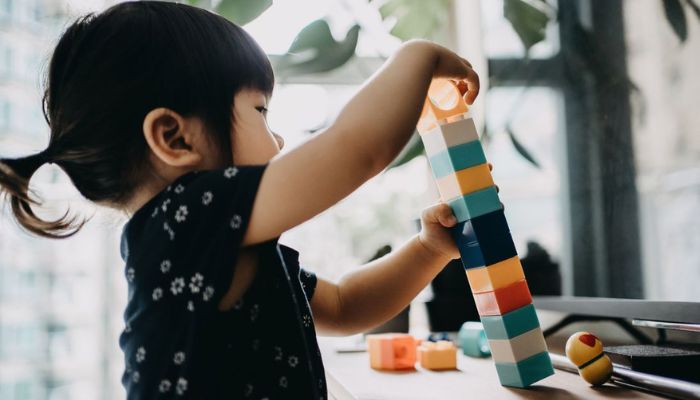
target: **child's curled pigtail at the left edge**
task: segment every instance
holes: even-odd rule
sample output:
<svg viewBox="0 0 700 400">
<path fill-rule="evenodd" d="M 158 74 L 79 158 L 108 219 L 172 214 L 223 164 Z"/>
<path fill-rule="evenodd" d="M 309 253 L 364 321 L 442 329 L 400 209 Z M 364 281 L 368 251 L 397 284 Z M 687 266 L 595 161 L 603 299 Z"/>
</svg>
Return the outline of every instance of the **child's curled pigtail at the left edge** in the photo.
<svg viewBox="0 0 700 400">
<path fill-rule="evenodd" d="M 85 221 L 76 222 L 68 211 L 60 218 L 45 221 L 32 210 L 40 205 L 34 193 L 30 193 L 29 179 L 46 162 L 46 152 L 27 157 L 0 159 L 0 193 L 9 197 L 15 220 L 24 229 L 46 238 L 61 239 L 76 234 Z M 31 194 L 31 195 L 30 195 Z"/>
</svg>

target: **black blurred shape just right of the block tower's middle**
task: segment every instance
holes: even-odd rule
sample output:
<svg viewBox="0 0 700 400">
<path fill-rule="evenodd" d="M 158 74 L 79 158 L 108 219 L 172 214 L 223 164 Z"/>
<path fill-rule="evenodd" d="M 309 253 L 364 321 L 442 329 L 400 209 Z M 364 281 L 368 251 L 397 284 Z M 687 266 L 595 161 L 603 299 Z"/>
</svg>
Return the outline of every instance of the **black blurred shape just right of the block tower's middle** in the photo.
<svg viewBox="0 0 700 400">
<path fill-rule="evenodd" d="M 561 296 L 559 264 L 552 261 L 544 247 L 527 242 L 527 255 L 520 259 L 530 293 L 539 296 Z"/>
</svg>

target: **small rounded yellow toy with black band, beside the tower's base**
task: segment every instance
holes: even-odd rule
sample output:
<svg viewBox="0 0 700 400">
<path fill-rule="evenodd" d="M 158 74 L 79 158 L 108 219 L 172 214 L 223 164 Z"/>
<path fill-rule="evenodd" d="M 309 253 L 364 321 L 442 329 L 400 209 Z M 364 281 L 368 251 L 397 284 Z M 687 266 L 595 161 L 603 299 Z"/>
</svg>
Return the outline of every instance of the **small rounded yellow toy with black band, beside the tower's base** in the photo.
<svg viewBox="0 0 700 400">
<path fill-rule="evenodd" d="M 591 385 L 602 385 L 612 376 L 612 362 L 603 352 L 603 343 L 588 332 L 576 332 L 566 341 L 566 356 L 578 368 L 581 378 Z"/>
</svg>

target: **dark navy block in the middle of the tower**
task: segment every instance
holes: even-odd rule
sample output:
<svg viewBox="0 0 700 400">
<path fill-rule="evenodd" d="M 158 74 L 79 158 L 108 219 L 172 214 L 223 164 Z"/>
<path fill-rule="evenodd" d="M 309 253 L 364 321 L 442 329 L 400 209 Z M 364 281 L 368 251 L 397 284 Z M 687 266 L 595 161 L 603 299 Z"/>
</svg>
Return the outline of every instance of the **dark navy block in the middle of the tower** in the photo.
<svg viewBox="0 0 700 400">
<path fill-rule="evenodd" d="M 502 209 L 460 222 L 451 232 L 464 268 L 488 266 L 518 255 Z"/>
</svg>

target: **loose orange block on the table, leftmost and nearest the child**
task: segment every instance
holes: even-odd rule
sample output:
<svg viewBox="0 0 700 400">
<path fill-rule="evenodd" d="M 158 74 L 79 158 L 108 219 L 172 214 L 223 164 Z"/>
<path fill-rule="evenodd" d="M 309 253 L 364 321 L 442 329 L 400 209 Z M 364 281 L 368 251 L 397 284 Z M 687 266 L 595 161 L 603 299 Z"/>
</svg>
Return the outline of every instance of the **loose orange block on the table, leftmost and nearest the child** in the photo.
<svg viewBox="0 0 700 400">
<path fill-rule="evenodd" d="M 414 369 L 416 364 L 416 340 L 405 333 L 380 333 L 367 335 L 369 363 L 374 369 Z"/>
</svg>

